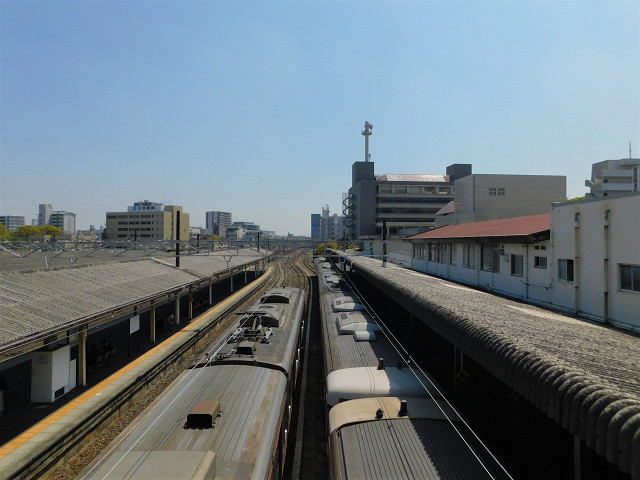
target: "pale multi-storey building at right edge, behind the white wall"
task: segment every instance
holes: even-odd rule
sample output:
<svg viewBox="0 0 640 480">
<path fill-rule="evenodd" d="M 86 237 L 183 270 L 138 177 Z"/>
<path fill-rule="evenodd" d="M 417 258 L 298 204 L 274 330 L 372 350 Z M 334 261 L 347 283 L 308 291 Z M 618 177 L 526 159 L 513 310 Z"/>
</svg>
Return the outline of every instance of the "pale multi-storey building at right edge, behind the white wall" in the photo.
<svg viewBox="0 0 640 480">
<path fill-rule="evenodd" d="M 638 170 L 640 158 L 604 160 L 591 166 L 591 180 L 585 180 L 589 187 L 587 196 L 591 198 L 608 197 L 638 191 Z"/>
</svg>

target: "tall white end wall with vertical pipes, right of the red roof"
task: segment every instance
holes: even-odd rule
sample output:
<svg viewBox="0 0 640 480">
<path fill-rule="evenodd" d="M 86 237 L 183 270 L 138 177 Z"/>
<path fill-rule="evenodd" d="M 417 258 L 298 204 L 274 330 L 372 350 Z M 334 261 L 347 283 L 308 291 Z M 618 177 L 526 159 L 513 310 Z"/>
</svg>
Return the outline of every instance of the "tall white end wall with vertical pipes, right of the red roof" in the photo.
<svg viewBox="0 0 640 480">
<path fill-rule="evenodd" d="M 555 205 L 551 228 L 554 279 L 558 260 L 574 259 L 574 281 L 557 281 L 553 303 L 640 329 L 640 292 L 620 284 L 620 265 L 640 265 L 640 194 Z"/>
</svg>

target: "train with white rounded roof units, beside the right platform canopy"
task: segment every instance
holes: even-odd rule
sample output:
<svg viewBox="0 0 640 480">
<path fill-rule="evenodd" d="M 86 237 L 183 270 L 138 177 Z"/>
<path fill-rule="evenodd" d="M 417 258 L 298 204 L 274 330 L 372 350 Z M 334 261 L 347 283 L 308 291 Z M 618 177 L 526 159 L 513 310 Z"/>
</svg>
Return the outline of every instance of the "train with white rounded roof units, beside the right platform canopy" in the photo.
<svg viewBox="0 0 640 480">
<path fill-rule="evenodd" d="M 511 478 L 340 266 L 315 265 L 331 478 Z"/>
</svg>

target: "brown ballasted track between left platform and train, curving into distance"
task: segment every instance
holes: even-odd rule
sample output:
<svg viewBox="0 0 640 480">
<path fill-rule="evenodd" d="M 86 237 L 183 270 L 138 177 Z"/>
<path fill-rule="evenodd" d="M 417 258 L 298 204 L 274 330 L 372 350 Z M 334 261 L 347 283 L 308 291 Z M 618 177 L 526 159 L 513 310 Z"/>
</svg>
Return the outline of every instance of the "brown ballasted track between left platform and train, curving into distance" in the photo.
<svg viewBox="0 0 640 480">
<path fill-rule="evenodd" d="M 117 415 L 107 419 L 83 444 L 77 453 L 69 455 L 57 462 L 57 466 L 50 469 L 41 478 L 53 480 L 67 480 L 76 476 L 106 448 L 120 432 L 122 432 L 155 398 L 158 397 L 178 375 L 187 368 L 192 360 L 200 355 L 207 347 L 215 343 L 237 319 L 235 311 L 249 308 L 269 288 L 277 286 L 293 286 L 304 289 L 308 298 L 310 292 L 309 275 L 313 274 L 313 263 L 310 256 L 302 250 L 294 251 L 290 255 L 277 257 L 273 262 L 274 274 L 265 284 L 248 295 L 244 301 L 227 314 L 221 316 L 211 326 L 208 332 L 203 332 L 200 341 L 191 349 L 190 355 L 185 355 L 179 362 L 162 371 L 161 376 L 148 385 L 142 395 L 138 395 L 128 404 L 117 411 Z M 114 418 L 115 417 L 115 418 Z"/>
</svg>

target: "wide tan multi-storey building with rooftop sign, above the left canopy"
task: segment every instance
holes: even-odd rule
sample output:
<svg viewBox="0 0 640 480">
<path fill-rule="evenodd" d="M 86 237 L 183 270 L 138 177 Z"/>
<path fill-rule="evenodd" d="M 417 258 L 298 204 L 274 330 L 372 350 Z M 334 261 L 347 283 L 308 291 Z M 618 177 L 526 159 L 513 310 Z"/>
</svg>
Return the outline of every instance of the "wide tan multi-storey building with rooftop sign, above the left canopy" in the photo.
<svg viewBox="0 0 640 480">
<path fill-rule="evenodd" d="M 176 240 L 180 214 L 180 240 L 189 239 L 189 214 L 178 205 L 136 202 L 126 212 L 108 212 L 105 240 Z"/>
</svg>

